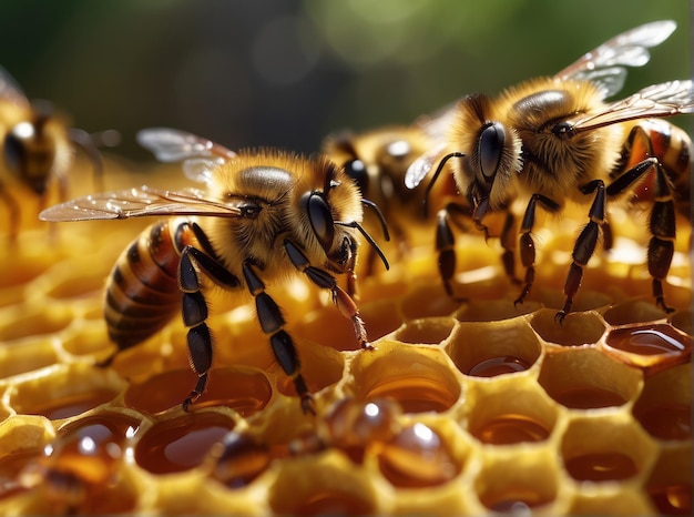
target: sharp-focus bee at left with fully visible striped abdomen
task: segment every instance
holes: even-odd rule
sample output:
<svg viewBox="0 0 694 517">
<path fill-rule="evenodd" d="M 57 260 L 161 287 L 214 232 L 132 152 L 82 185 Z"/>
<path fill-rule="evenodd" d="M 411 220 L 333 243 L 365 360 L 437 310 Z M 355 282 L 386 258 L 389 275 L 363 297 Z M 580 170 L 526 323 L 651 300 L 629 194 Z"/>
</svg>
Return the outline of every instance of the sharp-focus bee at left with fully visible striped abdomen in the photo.
<svg viewBox="0 0 694 517">
<path fill-rule="evenodd" d="M 236 153 L 163 128 L 142 130 L 137 139 L 161 161 L 184 160 L 187 178 L 207 189 L 176 192 L 142 186 L 79 197 L 40 214 L 44 221 L 178 216 L 154 223 L 118 260 L 106 286 L 111 339 L 119 351 L 134 346 L 181 311 L 188 328 L 191 365 L 198 375 L 183 402 L 187 410 L 205 391 L 212 365 L 203 276 L 225 290 L 246 291 L 255 300 L 258 322 L 275 358 L 293 378 L 302 408 L 313 413 L 294 341 L 265 285 L 303 273 L 316 286 L 330 291 L 337 308 L 351 321 L 361 347 L 370 348 L 351 296 L 356 232 L 388 268 L 385 255 L 360 225 L 364 207 L 379 213 L 377 206 L 363 199 L 351 179 L 324 156 L 304 158 L 273 149 Z M 385 222 L 384 233 L 388 239 Z M 347 277 L 347 291 L 337 284 L 336 275 Z"/>
</svg>

